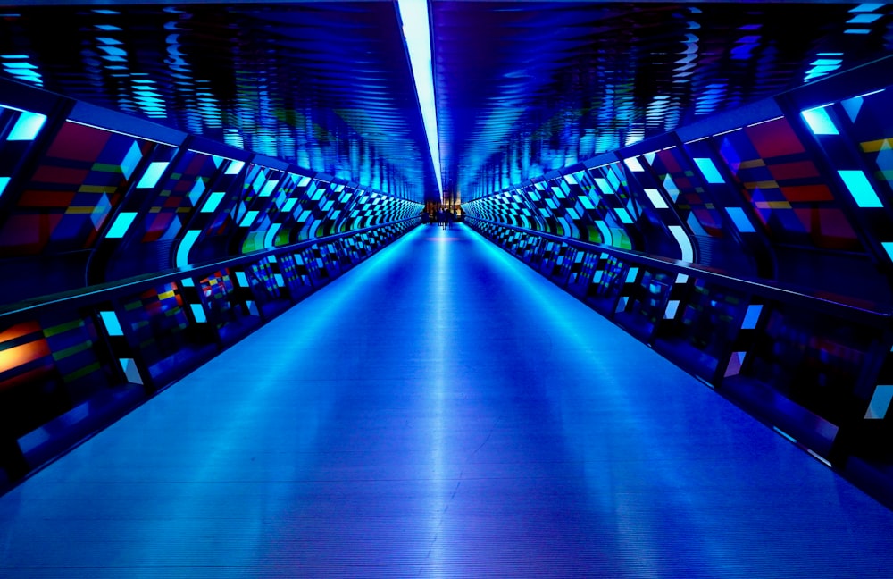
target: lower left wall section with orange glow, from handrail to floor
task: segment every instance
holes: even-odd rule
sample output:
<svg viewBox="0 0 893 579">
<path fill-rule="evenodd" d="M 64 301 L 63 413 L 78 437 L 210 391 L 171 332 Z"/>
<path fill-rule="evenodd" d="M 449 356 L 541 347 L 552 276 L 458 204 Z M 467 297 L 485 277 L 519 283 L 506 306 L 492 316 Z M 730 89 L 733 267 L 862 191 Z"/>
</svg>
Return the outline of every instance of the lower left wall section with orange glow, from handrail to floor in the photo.
<svg viewBox="0 0 893 579">
<path fill-rule="evenodd" d="M 0 307 L 0 491 L 419 222 L 413 217 Z"/>
</svg>

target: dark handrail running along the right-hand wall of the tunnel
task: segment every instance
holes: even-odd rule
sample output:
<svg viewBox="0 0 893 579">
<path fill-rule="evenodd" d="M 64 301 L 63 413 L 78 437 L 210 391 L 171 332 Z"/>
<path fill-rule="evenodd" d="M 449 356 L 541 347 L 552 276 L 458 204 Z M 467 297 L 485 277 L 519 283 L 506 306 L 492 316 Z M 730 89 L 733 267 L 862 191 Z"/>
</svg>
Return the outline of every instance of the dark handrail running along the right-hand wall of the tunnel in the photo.
<svg viewBox="0 0 893 579">
<path fill-rule="evenodd" d="M 771 285 L 765 280 L 759 278 L 745 278 L 738 275 L 722 272 L 714 268 L 705 267 L 703 265 L 690 264 L 680 259 L 672 259 L 663 256 L 651 256 L 638 251 L 629 249 L 614 248 L 602 243 L 591 243 L 580 239 L 572 239 L 555 235 L 554 233 L 546 233 L 545 231 L 535 231 L 509 225 L 508 223 L 495 222 L 488 219 L 480 219 L 480 217 L 472 217 L 466 215 L 466 219 L 476 222 L 488 223 L 497 227 L 503 227 L 513 231 L 518 231 L 528 235 L 537 235 L 541 238 L 549 239 L 558 243 L 567 244 L 573 248 L 582 249 L 589 252 L 602 252 L 611 256 L 621 257 L 623 260 L 630 261 L 640 265 L 656 266 L 672 273 L 683 273 L 692 277 L 703 278 L 709 281 L 715 281 L 723 286 L 730 287 L 735 290 L 741 290 L 746 293 L 754 294 L 762 298 L 778 300 L 786 303 L 806 302 L 810 306 L 828 315 L 836 315 L 848 319 L 854 319 L 862 323 L 868 323 L 873 326 L 889 327 L 893 322 L 893 311 L 882 309 L 878 304 L 869 304 L 861 302 L 855 298 L 841 295 L 826 294 L 825 296 L 814 295 L 805 290 L 795 287 L 784 287 L 782 285 Z M 849 302 L 849 303 L 847 303 Z"/>
</svg>

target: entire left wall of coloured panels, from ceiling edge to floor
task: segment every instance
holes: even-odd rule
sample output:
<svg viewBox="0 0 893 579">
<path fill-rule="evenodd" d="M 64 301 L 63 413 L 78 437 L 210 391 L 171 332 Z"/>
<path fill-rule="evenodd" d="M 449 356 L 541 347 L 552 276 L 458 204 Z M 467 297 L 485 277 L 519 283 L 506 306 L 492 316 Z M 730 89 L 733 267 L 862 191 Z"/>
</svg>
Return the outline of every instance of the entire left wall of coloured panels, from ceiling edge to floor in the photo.
<svg viewBox="0 0 893 579">
<path fill-rule="evenodd" d="M 420 211 L 0 80 L 0 489 L 413 228 Z"/>
</svg>

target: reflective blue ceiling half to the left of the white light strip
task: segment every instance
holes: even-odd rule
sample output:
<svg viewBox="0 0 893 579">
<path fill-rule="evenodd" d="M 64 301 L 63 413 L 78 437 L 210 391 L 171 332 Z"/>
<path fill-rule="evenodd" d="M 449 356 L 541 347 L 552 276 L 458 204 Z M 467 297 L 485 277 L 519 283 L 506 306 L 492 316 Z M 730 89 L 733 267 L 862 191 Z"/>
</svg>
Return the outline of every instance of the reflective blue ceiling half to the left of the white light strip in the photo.
<svg viewBox="0 0 893 579">
<path fill-rule="evenodd" d="M 436 193 L 391 2 L 3 12 L 6 76 L 392 195 Z"/>
</svg>

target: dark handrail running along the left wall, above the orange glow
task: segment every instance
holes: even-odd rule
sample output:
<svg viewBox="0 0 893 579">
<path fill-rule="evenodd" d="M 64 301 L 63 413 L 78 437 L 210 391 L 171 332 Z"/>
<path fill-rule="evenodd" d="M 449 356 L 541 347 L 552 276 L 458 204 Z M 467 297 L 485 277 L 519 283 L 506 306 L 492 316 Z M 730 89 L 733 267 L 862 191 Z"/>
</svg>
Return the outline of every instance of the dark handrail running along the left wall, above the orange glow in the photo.
<svg viewBox="0 0 893 579">
<path fill-rule="evenodd" d="M 163 270 L 161 272 L 133 276 L 125 278 L 123 280 L 108 281 L 104 283 L 84 286 L 75 290 L 66 290 L 54 294 L 45 294 L 43 296 L 38 296 L 37 298 L 29 298 L 14 302 L 12 304 L 5 304 L 3 306 L 0 306 L 0 322 L 6 323 L 11 320 L 14 321 L 23 316 L 31 315 L 35 310 L 47 307 L 78 307 L 88 305 L 96 303 L 96 301 L 115 298 L 122 294 L 130 293 L 135 287 L 150 284 L 157 285 L 168 281 L 179 281 L 185 276 L 196 276 L 204 275 L 206 273 L 213 273 L 223 267 L 232 267 L 255 262 L 267 256 L 278 256 L 284 253 L 296 253 L 299 251 L 303 251 L 306 248 L 311 248 L 313 247 L 313 245 L 318 243 L 330 243 L 332 241 L 338 241 L 338 239 L 344 239 L 369 231 L 375 231 L 383 227 L 388 227 L 390 225 L 409 222 L 413 219 L 419 219 L 419 217 L 407 217 L 405 219 L 387 223 L 380 223 L 379 225 L 372 225 L 371 227 L 364 227 L 358 230 L 342 231 L 340 233 L 328 235 L 322 238 L 305 239 L 303 241 L 298 241 L 296 243 L 282 246 L 280 248 L 262 249 L 241 256 L 228 257 L 220 261 L 206 262 L 204 264 L 195 265 L 190 264 L 183 267 Z"/>
</svg>

